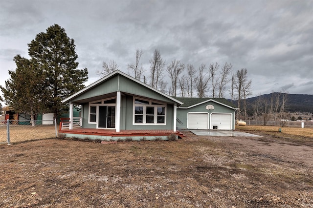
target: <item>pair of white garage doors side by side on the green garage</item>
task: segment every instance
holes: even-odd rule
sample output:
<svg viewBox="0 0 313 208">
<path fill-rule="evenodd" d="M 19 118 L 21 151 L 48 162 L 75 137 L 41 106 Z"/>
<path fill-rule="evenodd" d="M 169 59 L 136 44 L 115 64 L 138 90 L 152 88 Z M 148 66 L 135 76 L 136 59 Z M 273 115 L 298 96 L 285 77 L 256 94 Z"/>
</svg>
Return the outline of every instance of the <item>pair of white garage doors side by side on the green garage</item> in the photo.
<svg viewBox="0 0 313 208">
<path fill-rule="evenodd" d="M 202 113 L 189 112 L 187 117 L 188 129 L 232 129 L 231 113 Z"/>
</svg>

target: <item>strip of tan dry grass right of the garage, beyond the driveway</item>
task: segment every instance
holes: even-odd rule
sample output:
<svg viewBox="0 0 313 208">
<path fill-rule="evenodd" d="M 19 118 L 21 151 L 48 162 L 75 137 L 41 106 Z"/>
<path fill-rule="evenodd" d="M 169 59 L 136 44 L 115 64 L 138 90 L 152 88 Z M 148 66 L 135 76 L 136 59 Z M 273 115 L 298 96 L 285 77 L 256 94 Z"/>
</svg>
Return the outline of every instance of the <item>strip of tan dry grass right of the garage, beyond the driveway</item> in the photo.
<svg viewBox="0 0 313 208">
<path fill-rule="evenodd" d="M 273 135 L 279 135 L 279 128 L 281 128 L 280 134 L 313 138 L 313 128 L 279 127 L 264 125 L 246 125 L 246 126 L 236 125 L 235 127 L 236 129 L 246 131 L 272 132 Z"/>
</svg>

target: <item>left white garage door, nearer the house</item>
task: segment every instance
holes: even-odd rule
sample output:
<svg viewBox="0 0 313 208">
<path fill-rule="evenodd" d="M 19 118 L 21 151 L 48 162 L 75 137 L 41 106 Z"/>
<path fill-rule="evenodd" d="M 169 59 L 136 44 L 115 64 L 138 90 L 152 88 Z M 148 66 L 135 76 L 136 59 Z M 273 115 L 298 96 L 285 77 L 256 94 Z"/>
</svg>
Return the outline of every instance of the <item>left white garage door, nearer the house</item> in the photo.
<svg viewBox="0 0 313 208">
<path fill-rule="evenodd" d="M 188 113 L 188 128 L 208 129 L 209 114 L 207 113 Z"/>
</svg>

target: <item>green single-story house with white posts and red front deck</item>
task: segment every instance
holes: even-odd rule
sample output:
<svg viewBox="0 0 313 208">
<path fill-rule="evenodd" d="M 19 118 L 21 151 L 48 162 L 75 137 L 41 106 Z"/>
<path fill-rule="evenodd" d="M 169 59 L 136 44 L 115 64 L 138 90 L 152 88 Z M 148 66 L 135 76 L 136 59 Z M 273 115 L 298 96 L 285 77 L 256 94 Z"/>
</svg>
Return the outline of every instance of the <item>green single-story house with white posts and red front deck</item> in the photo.
<svg viewBox="0 0 313 208">
<path fill-rule="evenodd" d="M 69 96 L 63 103 L 81 105 L 81 117 L 69 114 L 60 133 L 67 137 L 117 140 L 166 139 L 177 134 L 177 106 L 182 102 L 116 70 Z"/>
</svg>

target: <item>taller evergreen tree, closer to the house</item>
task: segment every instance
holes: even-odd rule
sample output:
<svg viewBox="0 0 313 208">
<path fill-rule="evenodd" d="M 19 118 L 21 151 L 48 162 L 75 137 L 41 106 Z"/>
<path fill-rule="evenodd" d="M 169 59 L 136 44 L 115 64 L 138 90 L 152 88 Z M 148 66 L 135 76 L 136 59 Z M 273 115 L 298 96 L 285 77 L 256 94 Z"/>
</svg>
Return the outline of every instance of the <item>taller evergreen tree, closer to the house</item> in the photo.
<svg viewBox="0 0 313 208">
<path fill-rule="evenodd" d="M 28 44 L 28 54 L 45 76 L 46 103 L 55 119 L 64 108 L 61 101 L 84 87 L 87 68 L 77 69 L 74 40 L 58 24 L 48 27 L 46 33 L 37 34 Z"/>
</svg>

